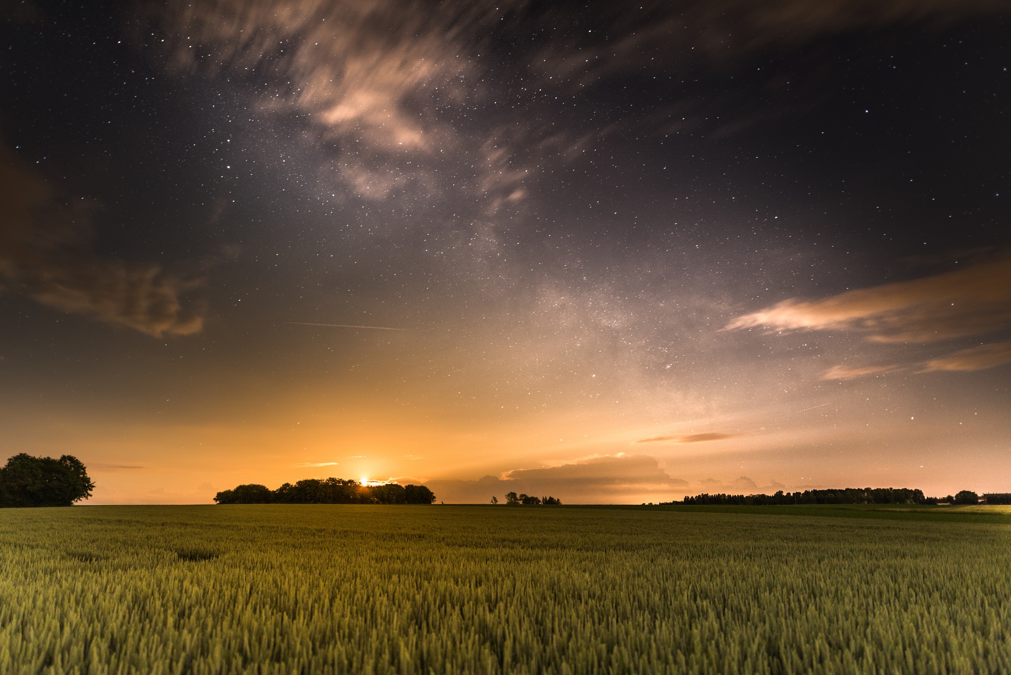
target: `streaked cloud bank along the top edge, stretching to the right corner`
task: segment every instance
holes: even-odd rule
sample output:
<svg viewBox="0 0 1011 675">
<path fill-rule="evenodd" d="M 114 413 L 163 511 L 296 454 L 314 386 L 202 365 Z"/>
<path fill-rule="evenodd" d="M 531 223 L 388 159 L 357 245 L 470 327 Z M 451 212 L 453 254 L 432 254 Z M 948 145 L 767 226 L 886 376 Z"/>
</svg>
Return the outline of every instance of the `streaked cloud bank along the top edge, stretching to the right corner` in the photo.
<svg viewBox="0 0 1011 675">
<path fill-rule="evenodd" d="M 245 80 L 258 92 L 254 107 L 304 120 L 334 149 L 318 162 L 323 183 L 369 199 L 405 190 L 451 194 L 457 213 L 479 218 L 518 207 L 537 175 L 571 161 L 591 140 L 624 134 L 620 119 L 595 111 L 591 120 L 566 119 L 565 132 L 538 121 L 566 118 L 553 102 L 562 91 L 578 94 L 582 106 L 584 86 L 610 74 L 669 75 L 702 54 L 725 59 L 770 43 L 1006 8 L 997 0 L 655 1 L 578 9 L 527 0 L 170 0 L 139 4 L 131 25 L 135 41 L 167 70 Z M 553 37 L 545 43 L 538 35 L 547 28 Z M 153 32 L 159 39 L 148 39 Z M 509 59 L 493 55 L 495 40 L 514 45 Z M 639 120 L 639 131 L 669 132 L 682 123 L 672 119 L 713 116 L 683 97 L 664 106 L 652 121 Z M 782 112 L 717 115 L 724 118 L 720 133 Z"/>
</svg>

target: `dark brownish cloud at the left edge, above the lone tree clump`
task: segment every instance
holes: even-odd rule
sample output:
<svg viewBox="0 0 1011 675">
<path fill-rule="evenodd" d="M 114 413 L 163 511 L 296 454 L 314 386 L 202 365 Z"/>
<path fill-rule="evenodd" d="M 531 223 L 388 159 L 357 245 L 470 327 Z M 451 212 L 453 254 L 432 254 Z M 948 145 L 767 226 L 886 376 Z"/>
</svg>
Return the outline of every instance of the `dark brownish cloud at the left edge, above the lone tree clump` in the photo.
<svg viewBox="0 0 1011 675">
<path fill-rule="evenodd" d="M 43 305 L 149 335 L 189 335 L 203 319 L 183 312 L 194 287 L 157 265 L 100 258 L 89 248 L 89 216 L 61 205 L 42 178 L 0 147 L 0 277 Z"/>
</svg>

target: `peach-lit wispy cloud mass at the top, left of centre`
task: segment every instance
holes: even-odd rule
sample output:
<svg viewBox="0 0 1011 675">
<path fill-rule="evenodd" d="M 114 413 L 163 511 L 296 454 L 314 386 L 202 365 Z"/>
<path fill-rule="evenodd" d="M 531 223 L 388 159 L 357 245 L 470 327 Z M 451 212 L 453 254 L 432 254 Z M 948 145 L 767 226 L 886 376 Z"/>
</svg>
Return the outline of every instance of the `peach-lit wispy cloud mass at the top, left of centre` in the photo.
<svg viewBox="0 0 1011 675">
<path fill-rule="evenodd" d="M 295 113 L 341 148 L 332 175 L 362 197 L 409 185 L 435 193 L 449 170 L 465 191 L 494 184 L 488 199 L 501 203 L 522 197 L 522 170 L 461 128 L 479 123 L 474 104 L 490 87 L 482 40 L 524 4 L 170 0 L 143 5 L 137 25 L 167 33 L 175 72 L 256 72 L 261 109 Z"/>
</svg>

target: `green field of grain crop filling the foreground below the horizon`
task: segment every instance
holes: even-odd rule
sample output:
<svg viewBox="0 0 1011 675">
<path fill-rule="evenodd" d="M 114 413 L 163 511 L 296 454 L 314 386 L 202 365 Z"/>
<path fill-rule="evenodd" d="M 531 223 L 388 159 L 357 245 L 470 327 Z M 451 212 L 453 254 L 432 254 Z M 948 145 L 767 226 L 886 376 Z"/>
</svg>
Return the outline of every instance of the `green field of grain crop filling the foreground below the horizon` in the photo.
<svg viewBox="0 0 1011 675">
<path fill-rule="evenodd" d="M 1009 570 L 987 522 L 4 509 L 0 672 L 1009 672 Z"/>
</svg>

